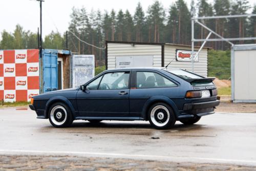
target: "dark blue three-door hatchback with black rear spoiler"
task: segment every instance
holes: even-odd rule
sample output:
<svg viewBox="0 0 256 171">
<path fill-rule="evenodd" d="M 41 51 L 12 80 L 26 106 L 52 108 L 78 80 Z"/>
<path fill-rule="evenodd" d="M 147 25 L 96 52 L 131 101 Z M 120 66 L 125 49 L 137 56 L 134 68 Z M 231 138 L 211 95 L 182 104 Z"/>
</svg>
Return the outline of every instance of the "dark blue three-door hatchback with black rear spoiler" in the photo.
<svg viewBox="0 0 256 171">
<path fill-rule="evenodd" d="M 77 89 L 34 96 L 30 109 L 55 127 L 73 120 L 148 120 L 168 129 L 194 124 L 219 105 L 214 78 L 169 68 L 107 70 Z"/>
</svg>

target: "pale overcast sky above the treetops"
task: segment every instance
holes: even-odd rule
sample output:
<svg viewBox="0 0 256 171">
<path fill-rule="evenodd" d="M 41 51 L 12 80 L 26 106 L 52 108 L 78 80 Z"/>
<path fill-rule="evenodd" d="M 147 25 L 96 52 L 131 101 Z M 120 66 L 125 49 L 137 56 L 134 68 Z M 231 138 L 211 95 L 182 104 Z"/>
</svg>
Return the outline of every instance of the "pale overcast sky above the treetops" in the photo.
<svg viewBox="0 0 256 171">
<path fill-rule="evenodd" d="M 154 3 L 155 0 L 45 0 L 42 8 L 42 29 L 43 37 L 52 30 L 65 32 L 70 22 L 72 7 L 84 6 L 88 12 L 93 8 L 101 11 L 111 11 L 114 9 L 128 9 L 132 14 L 138 2 L 141 3 L 144 11 Z M 176 0 L 159 0 L 167 11 L 170 4 Z M 190 0 L 185 0 L 190 5 Z M 212 2 L 210 0 L 209 2 Z M 249 0 L 251 5 L 256 4 L 256 0 Z M 17 24 L 23 26 L 25 30 L 37 31 L 39 27 L 39 3 L 36 0 L 1 0 L 0 1 L 0 32 L 6 30 L 12 32 Z"/>
</svg>

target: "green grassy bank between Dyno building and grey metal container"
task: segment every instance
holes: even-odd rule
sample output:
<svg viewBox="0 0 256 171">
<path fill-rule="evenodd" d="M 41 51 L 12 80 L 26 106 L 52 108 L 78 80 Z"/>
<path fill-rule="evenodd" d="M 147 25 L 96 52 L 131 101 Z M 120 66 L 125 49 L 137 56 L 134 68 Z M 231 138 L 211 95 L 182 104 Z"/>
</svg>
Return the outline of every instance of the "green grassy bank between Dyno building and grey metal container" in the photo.
<svg viewBox="0 0 256 171">
<path fill-rule="evenodd" d="M 230 78 L 230 50 L 208 51 L 208 77 Z"/>
</svg>

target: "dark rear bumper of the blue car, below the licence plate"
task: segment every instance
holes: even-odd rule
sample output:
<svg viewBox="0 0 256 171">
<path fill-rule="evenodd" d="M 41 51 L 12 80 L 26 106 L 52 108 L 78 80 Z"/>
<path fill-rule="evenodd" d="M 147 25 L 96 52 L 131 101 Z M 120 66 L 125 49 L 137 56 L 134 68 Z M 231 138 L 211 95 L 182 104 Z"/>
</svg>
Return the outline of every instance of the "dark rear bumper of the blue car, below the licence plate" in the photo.
<svg viewBox="0 0 256 171">
<path fill-rule="evenodd" d="M 183 111 L 178 118 L 191 118 L 194 116 L 204 116 L 214 114 L 214 109 L 220 104 L 220 100 L 186 103 L 184 104 Z"/>
</svg>

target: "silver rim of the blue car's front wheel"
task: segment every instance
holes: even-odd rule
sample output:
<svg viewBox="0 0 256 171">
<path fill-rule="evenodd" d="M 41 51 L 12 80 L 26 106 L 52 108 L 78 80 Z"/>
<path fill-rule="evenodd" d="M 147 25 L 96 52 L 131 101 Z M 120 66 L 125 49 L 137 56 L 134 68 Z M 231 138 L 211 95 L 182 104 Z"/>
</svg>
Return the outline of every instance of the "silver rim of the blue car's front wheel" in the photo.
<svg viewBox="0 0 256 171">
<path fill-rule="evenodd" d="M 50 117 L 54 124 L 61 125 L 67 120 L 67 111 L 63 106 L 56 105 L 51 110 Z"/>
</svg>

